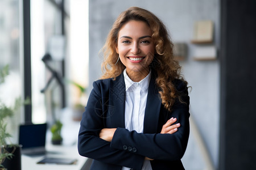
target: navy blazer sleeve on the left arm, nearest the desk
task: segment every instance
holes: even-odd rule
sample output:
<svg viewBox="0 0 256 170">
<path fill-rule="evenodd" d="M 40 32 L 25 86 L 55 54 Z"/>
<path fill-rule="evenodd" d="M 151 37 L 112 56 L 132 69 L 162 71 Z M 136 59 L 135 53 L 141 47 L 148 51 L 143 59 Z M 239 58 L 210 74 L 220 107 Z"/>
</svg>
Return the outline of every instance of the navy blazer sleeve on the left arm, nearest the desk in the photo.
<svg viewBox="0 0 256 170">
<path fill-rule="evenodd" d="M 79 154 L 104 163 L 141 169 L 144 156 L 110 147 L 110 142 L 99 137 L 101 129 L 106 128 L 104 127 L 104 118 L 96 113 L 96 110 L 97 112 L 102 111 L 101 88 L 98 83 L 93 83 L 93 90 L 89 96 L 80 124 Z"/>
</svg>

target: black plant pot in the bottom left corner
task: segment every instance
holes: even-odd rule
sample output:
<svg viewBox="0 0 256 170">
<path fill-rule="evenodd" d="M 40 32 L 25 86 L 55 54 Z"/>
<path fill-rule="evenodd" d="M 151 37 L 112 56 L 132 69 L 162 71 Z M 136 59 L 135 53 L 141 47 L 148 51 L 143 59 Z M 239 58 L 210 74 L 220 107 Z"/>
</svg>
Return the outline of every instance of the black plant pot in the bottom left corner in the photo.
<svg viewBox="0 0 256 170">
<path fill-rule="evenodd" d="M 11 154 L 13 157 L 10 159 L 5 159 L 2 165 L 8 170 L 21 170 L 21 147 L 19 145 L 7 145 L 4 146 L 5 150 Z"/>
</svg>

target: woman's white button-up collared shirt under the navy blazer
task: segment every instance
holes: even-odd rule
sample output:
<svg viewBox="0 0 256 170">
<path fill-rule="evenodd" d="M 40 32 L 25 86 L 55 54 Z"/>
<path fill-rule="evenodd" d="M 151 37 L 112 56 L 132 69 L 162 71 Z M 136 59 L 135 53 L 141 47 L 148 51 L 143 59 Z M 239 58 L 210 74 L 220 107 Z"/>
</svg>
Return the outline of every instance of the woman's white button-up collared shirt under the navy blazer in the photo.
<svg viewBox="0 0 256 170">
<path fill-rule="evenodd" d="M 147 103 L 148 86 L 151 78 L 150 73 L 142 79 L 140 82 L 133 82 L 126 73 L 126 69 L 123 71 L 125 78 L 125 129 L 129 131 L 137 131 L 137 133 L 143 133 L 144 114 Z M 122 170 L 128 170 L 130 168 L 123 167 Z M 151 164 L 149 160 L 145 160 L 142 170 L 151 170 Z"/>
</svg>

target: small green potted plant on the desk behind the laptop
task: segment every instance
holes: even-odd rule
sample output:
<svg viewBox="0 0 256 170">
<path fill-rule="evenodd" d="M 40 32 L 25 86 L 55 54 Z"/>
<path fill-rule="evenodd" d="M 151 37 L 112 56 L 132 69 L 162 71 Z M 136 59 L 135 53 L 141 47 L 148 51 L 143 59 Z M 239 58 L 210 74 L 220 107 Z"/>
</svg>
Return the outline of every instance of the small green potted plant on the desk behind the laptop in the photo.
<svg viewBox="0 0 256 170">
<path fill-rule="evenodd" d="M 63 124 L 57 120 L 55 124 L 51 126 L 51 133 L 52 133 L 52 144 L 53 145 L 61 145 L 62 137 L 61 137 L 61 128 Z"/>
</svg>

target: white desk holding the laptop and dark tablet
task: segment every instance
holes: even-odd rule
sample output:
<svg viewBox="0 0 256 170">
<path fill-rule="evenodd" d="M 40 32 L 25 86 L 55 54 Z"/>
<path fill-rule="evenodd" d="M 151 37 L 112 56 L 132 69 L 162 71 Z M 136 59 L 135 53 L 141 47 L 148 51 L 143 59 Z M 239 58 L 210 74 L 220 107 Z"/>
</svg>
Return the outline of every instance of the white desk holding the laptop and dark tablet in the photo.
<svg viewBox="0 0 256 170">
<path fill-rule="evenodd" d="M 77 151 L 77 146 L 53 146 L 47 145 L 46 149 L 49 153 L 47 153 L 48 157 L 51 158 L 69 158 L 69 159 L 77 159 L 76 164 L 72 165 L 57 165 L 57 164 L 36 164 L 40 160 L 44 158 L 44 156 L 26 156 L 22 155 L 22 170 L 45 170 L 45 169 L 54 169 L 54 170 L 80 170 L 82 166 L 85 164 L 87 158 L 80 156 Z"/>
</svg>

